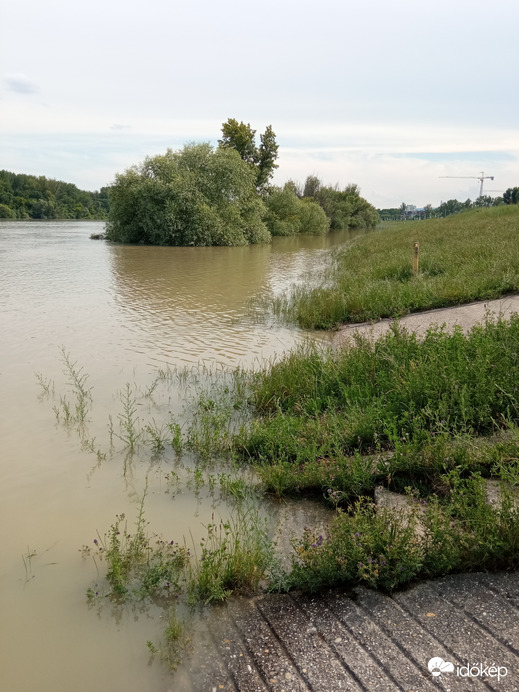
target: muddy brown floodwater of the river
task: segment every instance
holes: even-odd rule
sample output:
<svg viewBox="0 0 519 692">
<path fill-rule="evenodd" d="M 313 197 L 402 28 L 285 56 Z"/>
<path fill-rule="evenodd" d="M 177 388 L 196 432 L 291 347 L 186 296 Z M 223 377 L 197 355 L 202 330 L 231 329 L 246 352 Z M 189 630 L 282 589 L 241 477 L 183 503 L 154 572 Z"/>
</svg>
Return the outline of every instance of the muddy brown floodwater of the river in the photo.
<svg viewBox="0 0 519 692">
<path fill-rule="evenodd" d="M 250 302 L 315 271 L 329 247 L 351 237 L 152 248 L 90 240 L 102 230 L 97 222 L 0 224 L 0 687 L 10 692 L 170 689 L 146 647 L 164 629 L 161 614 L 89 607 L 86 590 L 99 576 L 80 548 L 116 514 L 133 521 L 146 478 L 146 519 L 168 539 L 197 542 L 227 510 L 189 474 L 171 483 L 182 465 L 172 454 L 116 449 L 100 460 L 109 416 L 117 423 L 126 383 L 143 419 L 180 412 L 180 385 L 169 383 L 159 404 L 142 396 L 157 368 L 251 367 L 307 338 Z M 61 348 L 92 388 L 82 431 L 53 410 L 63 395 L 73 402 Z"/>
</svg>

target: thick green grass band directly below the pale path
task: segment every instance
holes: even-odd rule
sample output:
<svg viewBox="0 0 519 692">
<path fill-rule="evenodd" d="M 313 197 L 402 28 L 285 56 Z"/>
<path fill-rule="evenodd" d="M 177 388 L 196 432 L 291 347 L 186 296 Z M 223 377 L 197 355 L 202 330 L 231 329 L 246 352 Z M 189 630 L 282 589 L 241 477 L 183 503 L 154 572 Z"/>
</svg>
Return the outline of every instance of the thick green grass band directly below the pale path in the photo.
<svg viewBox="0 0 519 692">
<path fill-rule="evenodd" d="M 519 421 L 518 353 L 516 315 L 466 336 L 436 328 L 420 341 L 395 326 L 355 348 L 295 351 L 257 375 L 262 417 L 240 444 L 263 462 L 307 465 L 431 434 L 489 434 Z"/>
</svg>

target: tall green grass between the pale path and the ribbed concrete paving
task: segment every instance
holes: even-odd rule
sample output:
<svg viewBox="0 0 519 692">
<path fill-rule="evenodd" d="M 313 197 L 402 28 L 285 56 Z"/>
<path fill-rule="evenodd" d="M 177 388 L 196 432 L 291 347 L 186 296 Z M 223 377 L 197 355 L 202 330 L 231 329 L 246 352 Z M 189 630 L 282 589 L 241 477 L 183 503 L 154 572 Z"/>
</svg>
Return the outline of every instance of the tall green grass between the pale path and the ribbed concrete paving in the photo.
<svg viewBox="0 0 519 692">
<path fill-rule="evenodd" d="M 453 571 L 519 567 L 519 316 L 424 339 L 301 348 L 251 381 L 256 417 L 236 439 L 264 487 L 337 509 L 307 530 L 284 588 L 391 591 Z M 485 495 L 497 481 L 500 506 Z M 409 511 L 375 507 L 377 485 Z M 420 530 L 417 531 L 418 527 Z"/>
</svg>

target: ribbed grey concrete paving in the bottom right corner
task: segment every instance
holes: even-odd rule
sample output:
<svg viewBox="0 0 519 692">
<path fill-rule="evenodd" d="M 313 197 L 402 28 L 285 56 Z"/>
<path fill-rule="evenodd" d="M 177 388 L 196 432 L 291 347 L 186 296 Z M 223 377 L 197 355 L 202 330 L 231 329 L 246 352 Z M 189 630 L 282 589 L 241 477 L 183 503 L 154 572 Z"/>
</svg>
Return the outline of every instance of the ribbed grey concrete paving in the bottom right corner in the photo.
<svg viewBox="0 0 519 692">
<path fill-rule="evenodd" d="M 195 650 L 172 692 L 515 692 L 519 574 L 452 575 L 392 597 L 356 588 L 232 600 Z M 433 676 L 435 657 L 454 670 Z"/>
</svg>

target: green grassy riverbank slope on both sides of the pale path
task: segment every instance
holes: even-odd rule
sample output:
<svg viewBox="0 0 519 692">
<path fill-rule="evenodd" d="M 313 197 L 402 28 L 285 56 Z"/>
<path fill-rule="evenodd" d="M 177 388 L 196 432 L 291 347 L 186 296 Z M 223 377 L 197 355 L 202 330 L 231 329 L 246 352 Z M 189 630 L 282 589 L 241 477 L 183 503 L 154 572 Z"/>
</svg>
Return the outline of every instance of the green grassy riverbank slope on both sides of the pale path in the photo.
<svg viewBox="0 0 519 692">
<path fill-rule="evenodd" d="M 302 323 L 329 326 L 517 291 L 518 230 L 517 207 L 399 224 L 343 252 L 334 288 L 299 292 L 291 309 Z M 327 536 L 308 531 L 285 585 L 393 589 L 518 567 L 518 382 L 519 317 L 466 336 L 431 329 L 422 341 L 395 327 L 377 343 L 301 349 L 256 374 L 241 453 L 268 491 L 338 508 Z M 495 505 L 488 479 L 499 487 Z M 407 492 L 409 511 L 377 510 L 380 484 Z"/>
</svg>

